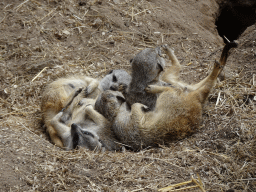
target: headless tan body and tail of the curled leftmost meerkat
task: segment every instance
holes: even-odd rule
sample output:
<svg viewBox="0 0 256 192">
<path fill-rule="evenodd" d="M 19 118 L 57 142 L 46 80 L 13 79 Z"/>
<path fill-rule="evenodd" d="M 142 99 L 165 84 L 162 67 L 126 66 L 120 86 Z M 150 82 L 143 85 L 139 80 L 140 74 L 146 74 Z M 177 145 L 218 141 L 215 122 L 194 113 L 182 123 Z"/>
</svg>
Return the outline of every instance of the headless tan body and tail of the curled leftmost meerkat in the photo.
<svg viewBox="0 0 256 192">
<path fill-rule="evenodd" d="M 77 89 L 83 88 L 84 92 L 88 92 L 88 97 L 96 98 L 100 91 L 98 90 L 99 81 L 86 76 L 60 78 L 46 86 L 43 96 L 41 109 L 43 112 L 43 120 L 46 131 L 50 138 L 58 147 L 63 147 L 63 143 L 59 138 L 56 130 L 51 125 L 51 119 L 64 108 L 73 97 Z M 74 101 L 81 100 L 85 93 L 77 96 Z"/>
</svg>

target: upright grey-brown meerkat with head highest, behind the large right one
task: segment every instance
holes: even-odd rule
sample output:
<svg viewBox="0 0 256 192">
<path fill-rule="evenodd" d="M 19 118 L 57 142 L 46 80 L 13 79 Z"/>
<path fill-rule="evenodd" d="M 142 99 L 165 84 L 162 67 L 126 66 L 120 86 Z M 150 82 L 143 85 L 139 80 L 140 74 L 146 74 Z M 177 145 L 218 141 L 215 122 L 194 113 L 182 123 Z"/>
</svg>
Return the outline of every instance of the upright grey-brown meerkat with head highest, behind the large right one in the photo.
<svg viewBox="0 0 256 192">
<path fill-rule="evenodd" d="M 142 50 L 131 60 L 131 65 L 131 83 L 128 87 L 121 86 L 119 90 L 129 106 L 142 103 L 148 106 L 148 110 L 153 110 L 157 94 L 147 93 L 145 88 L 150 84 L 163 85 L 160 74 L 164 70 L 165 61 L 161 57 L 160 47 Z"/>
</svg>

